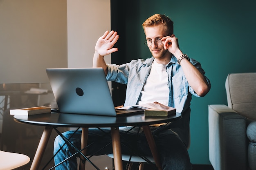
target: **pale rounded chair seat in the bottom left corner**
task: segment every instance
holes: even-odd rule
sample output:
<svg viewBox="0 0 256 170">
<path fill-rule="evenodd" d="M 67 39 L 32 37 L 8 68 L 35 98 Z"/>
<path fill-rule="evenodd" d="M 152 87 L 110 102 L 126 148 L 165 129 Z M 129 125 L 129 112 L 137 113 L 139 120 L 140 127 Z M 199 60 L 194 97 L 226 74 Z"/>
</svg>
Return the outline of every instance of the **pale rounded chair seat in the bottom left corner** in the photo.
<svg viewBox="0 0 256 170">
<path fill-rule="evenodd" d="M 0 150 L 0 170 L 12 170 L 29 163 L 27 155 Z"/>
</svg>

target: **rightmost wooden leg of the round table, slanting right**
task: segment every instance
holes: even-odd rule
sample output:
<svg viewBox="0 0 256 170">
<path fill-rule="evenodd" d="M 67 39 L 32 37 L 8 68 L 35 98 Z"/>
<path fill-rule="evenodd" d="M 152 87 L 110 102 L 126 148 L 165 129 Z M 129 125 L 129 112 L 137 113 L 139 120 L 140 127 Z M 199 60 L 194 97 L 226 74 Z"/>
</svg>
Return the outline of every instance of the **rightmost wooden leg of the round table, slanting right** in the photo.
<svg viewBox="0 0 256 170">
<path fill-rule="evenodd" d="M 156 164 L 158 170 L 162 170 L 162 164 L 161 164 L 160 157 L 159 157 L 158 152 L 157 152 L 157 147 L 155 145 L 155 140 L 154 140 L 153 135 L 150 131 L 150 128 L 149 128 L 148 125 L 142 126 L 142 128 L 143 128 L 144 133 L 146 135 L 149 148 L 150 148 L 151 153 L 153 155 L 153 158 L 155 160 L 155 164 Z"/>
</svg>

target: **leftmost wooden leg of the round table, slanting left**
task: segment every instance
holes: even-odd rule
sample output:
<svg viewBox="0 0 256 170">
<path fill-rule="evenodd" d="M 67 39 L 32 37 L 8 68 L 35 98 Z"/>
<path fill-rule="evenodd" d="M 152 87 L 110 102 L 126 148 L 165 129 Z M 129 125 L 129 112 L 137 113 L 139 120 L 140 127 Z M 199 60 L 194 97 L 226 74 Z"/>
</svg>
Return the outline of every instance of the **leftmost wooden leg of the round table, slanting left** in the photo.
<svg viewBox="0 0 256 170">
<path fill-rule="evenodd" d="M 38 148 L 36 150 L 36 154 L 35 154 L 32 164 L 31 164 L 30 170 L 38 170 L 39 164 L 43 158 L 43 154 L 45 152 L 45 148 L 47 146 L 47 143 L 49 141 L 49 137 L 51 136 L 51 133 L 52 133 L 52 127 L 45 126 L 45 130 L 43 131 L 42 137 L 38 144 Z"/>
</svg>

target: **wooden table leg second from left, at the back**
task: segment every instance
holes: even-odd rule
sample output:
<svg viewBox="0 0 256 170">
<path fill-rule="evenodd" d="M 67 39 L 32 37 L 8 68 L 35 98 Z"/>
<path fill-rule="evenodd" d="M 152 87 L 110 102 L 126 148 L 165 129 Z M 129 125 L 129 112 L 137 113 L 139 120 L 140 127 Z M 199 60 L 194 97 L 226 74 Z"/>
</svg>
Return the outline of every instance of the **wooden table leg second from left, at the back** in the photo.
<svg viewBox="0 0 256 170">
<path fill-rule="evenodd" d="M 81 149 L 87 146 L 88 141 L 88 128 L 82 128 L 82 136 L 81 136 Z M 81 151 L 83 155 L 86 156 L 86 149 Z M 80 165 L 79 170 L 85 170 L 85 159 L 81 155 L 80 156 Z"/>
</svg>

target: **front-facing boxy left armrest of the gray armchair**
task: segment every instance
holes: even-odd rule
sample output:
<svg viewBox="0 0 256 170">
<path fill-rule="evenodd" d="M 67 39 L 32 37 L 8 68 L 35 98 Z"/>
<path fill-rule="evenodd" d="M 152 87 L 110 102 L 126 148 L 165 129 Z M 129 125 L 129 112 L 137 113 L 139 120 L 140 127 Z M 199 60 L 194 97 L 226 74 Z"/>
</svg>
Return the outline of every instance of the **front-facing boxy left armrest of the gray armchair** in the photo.
<svg viewBox="0 0 256 170">
<path fill-rule="evenodd" d="M 247 169 L 245 117 L 226 105 L 209 105 L 209 159 L 215 170 Z"/>
</svg>

